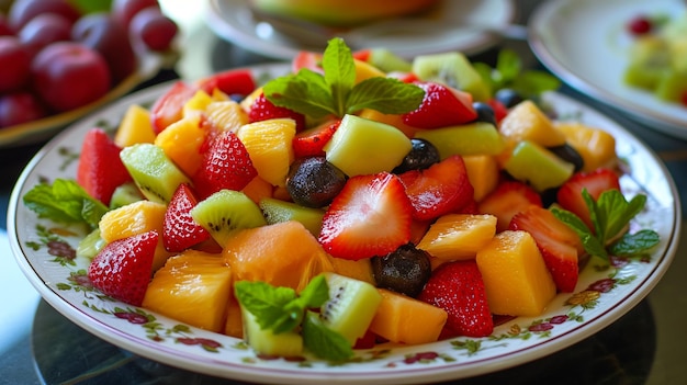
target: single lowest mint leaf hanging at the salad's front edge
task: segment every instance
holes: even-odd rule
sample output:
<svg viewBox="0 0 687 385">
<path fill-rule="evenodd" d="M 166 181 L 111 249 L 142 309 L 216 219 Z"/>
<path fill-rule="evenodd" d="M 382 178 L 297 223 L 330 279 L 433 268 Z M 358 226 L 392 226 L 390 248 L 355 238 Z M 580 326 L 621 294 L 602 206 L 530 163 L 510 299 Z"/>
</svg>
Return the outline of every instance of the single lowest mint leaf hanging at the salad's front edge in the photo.
<svg viewBox="0 0 687 385">
<path fill-rule="evenodd" d="M 307 312 L 303 321 L 303 346 L 313 354 L 333 362 L 346 361 L 353 355 L 348 340 L 323 325 L 313 312 Z"/>
</svg>

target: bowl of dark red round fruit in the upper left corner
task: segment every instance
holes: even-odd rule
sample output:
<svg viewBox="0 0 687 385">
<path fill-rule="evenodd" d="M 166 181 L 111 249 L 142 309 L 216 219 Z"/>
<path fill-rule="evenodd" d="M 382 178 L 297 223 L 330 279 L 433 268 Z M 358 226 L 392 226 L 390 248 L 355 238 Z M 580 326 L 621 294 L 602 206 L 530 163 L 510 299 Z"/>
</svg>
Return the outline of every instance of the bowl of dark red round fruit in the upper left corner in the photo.
<svg viewBox="0 0 687 385">
<path fill-rule="evenodd" d="M 0 10 L 0 147 L 43 141 L 178 56 L 157 0 L 14 0 Z"/>
</svg>

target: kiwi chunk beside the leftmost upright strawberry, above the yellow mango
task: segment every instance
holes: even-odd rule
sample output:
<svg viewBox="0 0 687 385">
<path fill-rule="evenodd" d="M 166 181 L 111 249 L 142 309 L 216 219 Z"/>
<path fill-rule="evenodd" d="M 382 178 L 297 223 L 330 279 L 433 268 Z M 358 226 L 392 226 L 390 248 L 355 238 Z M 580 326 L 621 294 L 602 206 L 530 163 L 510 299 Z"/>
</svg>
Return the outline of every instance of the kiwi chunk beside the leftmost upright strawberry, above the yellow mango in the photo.
<svg viewBox="0 0 687 385">
<path fill-rule="evenodd" d="M 191 183 L 165 150 L 156 145 L 142 143 L 125 147 L 120 158 L 149 201 L 167 204 L 179 184 Z"/>
</svg>

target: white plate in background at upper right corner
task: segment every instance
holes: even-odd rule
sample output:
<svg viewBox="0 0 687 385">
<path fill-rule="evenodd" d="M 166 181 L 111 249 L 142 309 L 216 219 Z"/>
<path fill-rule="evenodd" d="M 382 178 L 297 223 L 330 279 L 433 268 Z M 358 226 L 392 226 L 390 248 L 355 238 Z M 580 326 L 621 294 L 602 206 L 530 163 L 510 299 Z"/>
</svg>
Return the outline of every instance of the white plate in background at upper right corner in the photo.
<svg viewBox="0 0 687 385">
<path fill-rule="evenodd" d="M 571 87 L 668 135 L 687 138 L 687 106 L 628 87 L 622 75 L 632 39 L 624 26 L 638 14 L 679 15 L 682 0 L 553 0 L 530 19 L 530 46 Z"/>
</svg>

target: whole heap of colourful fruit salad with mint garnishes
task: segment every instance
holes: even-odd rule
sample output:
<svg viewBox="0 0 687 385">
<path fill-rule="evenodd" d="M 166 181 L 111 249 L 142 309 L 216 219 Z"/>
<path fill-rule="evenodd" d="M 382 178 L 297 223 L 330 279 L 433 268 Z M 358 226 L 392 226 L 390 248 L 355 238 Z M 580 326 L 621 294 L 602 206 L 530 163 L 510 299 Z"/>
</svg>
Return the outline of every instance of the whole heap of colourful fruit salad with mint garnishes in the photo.
<svg viewBox="0 0 687 385">
<path fill-rule="evenodd" d="M 24 204 L 90 228 L 77 253 L 104 295 L 334 362 L 489 336 L 573 292 L 588 259 L 657 245 L 630 230 L 646 197 L 622 194 L 615 138 L 504 88 L 511 55 L 373 56 L 335 38 L 264 83 L 178 81 L 89 131 L 76 180 Z"/>
</svg>

